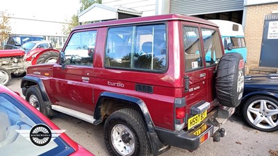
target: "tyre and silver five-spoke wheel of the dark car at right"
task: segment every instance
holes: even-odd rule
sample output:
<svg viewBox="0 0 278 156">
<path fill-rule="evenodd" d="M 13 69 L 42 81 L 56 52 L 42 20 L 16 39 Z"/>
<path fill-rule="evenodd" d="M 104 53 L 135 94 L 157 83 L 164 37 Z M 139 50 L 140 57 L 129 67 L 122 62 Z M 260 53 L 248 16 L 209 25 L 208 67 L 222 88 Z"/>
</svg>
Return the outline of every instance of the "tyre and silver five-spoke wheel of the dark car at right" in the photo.
<svg viewBox="0 0 278 156">
<path fill-rule="evenodd" d="M 268 96 L 253 96 L 243 104 L 243 119 L 265 132 L 278 130 L 278 101 Z"/>
</svg>

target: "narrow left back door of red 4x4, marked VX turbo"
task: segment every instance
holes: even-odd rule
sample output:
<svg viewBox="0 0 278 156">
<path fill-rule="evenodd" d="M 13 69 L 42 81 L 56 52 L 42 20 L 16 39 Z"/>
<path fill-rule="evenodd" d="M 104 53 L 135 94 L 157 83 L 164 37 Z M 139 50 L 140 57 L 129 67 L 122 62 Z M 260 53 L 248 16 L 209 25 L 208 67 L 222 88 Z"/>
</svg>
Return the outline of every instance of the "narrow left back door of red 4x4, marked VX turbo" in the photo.
<svg viewBox="0 0 278 156">
<path fill-rule="evenodd" d="M 193 116 L 204 113 L 206 116 L 206 109 L 202 112 L 192 112 L 190 109 L 196 105 L 203 105 L 207 99 L 208 73 L 204 64 L 204 57 L 202 53 L 202 38 L 200 36 L 199 24 L 182 23 L 183 28 L 183 48 L 184 48 L 184 76 L 188 82 L 188 90 L 186 96 L 186 112 L 188 116 L 188 129 L 197 125 L 200 121 L 191 122 Z M 205 105 L 207 105 L 206 103 Z M 204 117 L 205 117 L 204 116 Z"/>
</svg>

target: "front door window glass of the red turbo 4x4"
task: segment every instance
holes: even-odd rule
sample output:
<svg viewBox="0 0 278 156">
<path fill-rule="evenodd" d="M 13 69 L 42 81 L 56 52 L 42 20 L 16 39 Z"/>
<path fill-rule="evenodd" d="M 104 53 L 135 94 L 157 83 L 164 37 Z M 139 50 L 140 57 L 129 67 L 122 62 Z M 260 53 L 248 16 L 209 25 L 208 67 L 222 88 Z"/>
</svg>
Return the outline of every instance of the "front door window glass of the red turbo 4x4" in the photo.
<svg viewBox="0 0 278 156">
<path fill-rule="evenodd" d="M 77 32 L 65 48 L 65 64 L 92 66 L 97 31 Z"/>
</svg>

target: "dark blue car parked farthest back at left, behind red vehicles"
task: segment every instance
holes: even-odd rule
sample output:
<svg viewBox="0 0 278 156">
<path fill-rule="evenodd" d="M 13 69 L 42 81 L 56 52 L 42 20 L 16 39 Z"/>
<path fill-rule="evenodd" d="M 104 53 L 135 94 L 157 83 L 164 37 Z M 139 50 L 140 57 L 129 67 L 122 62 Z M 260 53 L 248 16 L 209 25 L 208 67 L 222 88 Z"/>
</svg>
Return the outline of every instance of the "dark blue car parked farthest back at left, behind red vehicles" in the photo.
<svg viewBox="0 0 278 156">
<path fill-rule="evenodd" d="M 8 42 L 4 45 L 4 49 L 19 49 L 19 47 L 26 42 L 42 40 L 44 40 L 44 38 L 38 36 L 12 35 L 8 38 Z"/>
</svg>

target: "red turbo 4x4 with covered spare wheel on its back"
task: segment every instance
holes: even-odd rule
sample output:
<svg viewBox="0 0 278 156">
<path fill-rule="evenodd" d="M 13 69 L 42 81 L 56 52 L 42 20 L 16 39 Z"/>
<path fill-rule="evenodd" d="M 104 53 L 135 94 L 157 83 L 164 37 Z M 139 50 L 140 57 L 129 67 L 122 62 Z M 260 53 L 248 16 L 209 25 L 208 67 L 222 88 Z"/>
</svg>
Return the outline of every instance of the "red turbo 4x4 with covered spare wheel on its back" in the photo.
<svg viewBox="0 0 278 156">
<path fill-rule="evenodd" d="M 218 27 L 183 15 L 77 26 L 55 64 L 28 67 L 26 100 L 104 124 L 111 155 L 159 155 L 220 141 L 243 95 L 244 62 Z"/>
</svg>

